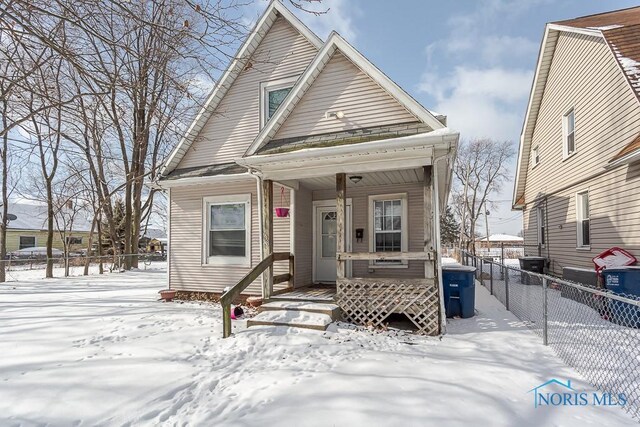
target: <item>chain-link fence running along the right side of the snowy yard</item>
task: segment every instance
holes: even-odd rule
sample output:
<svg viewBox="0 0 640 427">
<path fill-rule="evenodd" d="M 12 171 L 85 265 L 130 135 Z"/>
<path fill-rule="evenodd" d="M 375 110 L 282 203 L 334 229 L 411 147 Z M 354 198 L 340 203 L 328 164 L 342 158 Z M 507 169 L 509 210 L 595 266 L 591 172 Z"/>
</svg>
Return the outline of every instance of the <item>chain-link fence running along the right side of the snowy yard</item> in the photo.
<svg viewBox="0 0 640 427">
<path fill-rule="evenodd" d="M 462 253 L 476 279 L 594 387 L 640 420 L 640 297 Z"/>
</svg>

